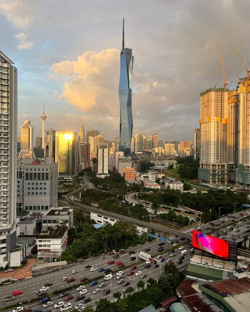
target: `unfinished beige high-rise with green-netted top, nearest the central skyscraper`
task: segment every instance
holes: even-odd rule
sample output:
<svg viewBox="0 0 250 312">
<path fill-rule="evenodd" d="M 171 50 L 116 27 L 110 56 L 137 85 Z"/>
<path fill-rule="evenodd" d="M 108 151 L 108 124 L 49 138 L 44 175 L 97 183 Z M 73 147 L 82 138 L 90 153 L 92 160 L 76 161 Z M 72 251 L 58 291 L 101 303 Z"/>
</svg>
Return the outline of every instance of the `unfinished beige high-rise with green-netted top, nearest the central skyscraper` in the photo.
<svg viewBox="0 0 250 312">
<path fill-rule="evenodd" d="M 200 94 L 200 168 L 198 178 L 208 184 L 227 184 L 228 89 L 210 88 Z"/>
</svg>

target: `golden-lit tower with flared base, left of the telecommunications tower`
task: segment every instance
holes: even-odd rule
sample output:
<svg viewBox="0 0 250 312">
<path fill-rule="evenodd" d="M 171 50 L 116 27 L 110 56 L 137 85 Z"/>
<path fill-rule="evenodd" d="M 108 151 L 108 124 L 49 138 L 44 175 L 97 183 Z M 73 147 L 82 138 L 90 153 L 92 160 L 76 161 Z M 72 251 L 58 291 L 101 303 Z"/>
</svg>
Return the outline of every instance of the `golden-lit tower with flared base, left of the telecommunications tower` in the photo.
<svg viewBox="0 0 250 312">
<path fill-rule="evenodd" d="M 21 151 L 18 158 L 36 158 L 33 151 L 33 127 L 30 125 L 29 120 L 24 120 L 21 127 Z"/>
</svg>

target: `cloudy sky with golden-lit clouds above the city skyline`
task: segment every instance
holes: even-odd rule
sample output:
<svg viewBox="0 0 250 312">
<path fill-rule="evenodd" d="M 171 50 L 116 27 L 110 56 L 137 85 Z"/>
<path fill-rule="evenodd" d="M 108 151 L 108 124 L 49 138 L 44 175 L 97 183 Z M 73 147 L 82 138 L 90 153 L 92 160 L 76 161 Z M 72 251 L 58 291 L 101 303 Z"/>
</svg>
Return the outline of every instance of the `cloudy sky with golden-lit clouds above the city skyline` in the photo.
<svg viewBox="0 0 250 312">
<path fill-rule="evenodd" d="M 18 69 L 18 127 L 99 129 L 119 135 L 118 84 L 122 19 L 132 48 L 133 133 L 193 140 L 199 94 L 229 88 L 249 66 L 248 0 L 0 0 L 0 50 Z M 4 30 L 4 31 L 3 31 Z M 243 72 L 245 75 L 245 71 Z"/>
</svg>

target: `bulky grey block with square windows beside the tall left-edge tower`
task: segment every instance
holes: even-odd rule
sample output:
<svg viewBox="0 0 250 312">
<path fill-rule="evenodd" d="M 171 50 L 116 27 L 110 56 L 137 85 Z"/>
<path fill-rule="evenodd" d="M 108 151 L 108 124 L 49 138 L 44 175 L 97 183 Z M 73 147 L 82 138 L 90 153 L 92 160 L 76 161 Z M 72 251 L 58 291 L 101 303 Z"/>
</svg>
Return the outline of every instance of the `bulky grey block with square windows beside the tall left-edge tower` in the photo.
<svg viewBox="0 0 250 312">
<path fill-rule="evenodd" d="M 23 159 L 17 163 L 17 211 L 41 215 L 57 206 L 58 163 L 52 157 L 44 161 Z"/>
</svg>

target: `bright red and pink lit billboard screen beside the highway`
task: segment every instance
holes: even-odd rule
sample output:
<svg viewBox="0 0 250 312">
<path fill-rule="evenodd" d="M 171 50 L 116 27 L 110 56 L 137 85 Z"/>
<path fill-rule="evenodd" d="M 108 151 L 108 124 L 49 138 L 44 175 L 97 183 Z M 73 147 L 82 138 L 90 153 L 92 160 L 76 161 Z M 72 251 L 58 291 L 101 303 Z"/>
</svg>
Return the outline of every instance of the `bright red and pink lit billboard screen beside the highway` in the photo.
<svg viewBox="0 0 250 312">
<path fill-rule="evenodd" d="M 229 242 L 223 239 L 207 235 L 193 230 L 193 247 L 207 251 L 215 256 L 229 260 Z"/>
</svg>

